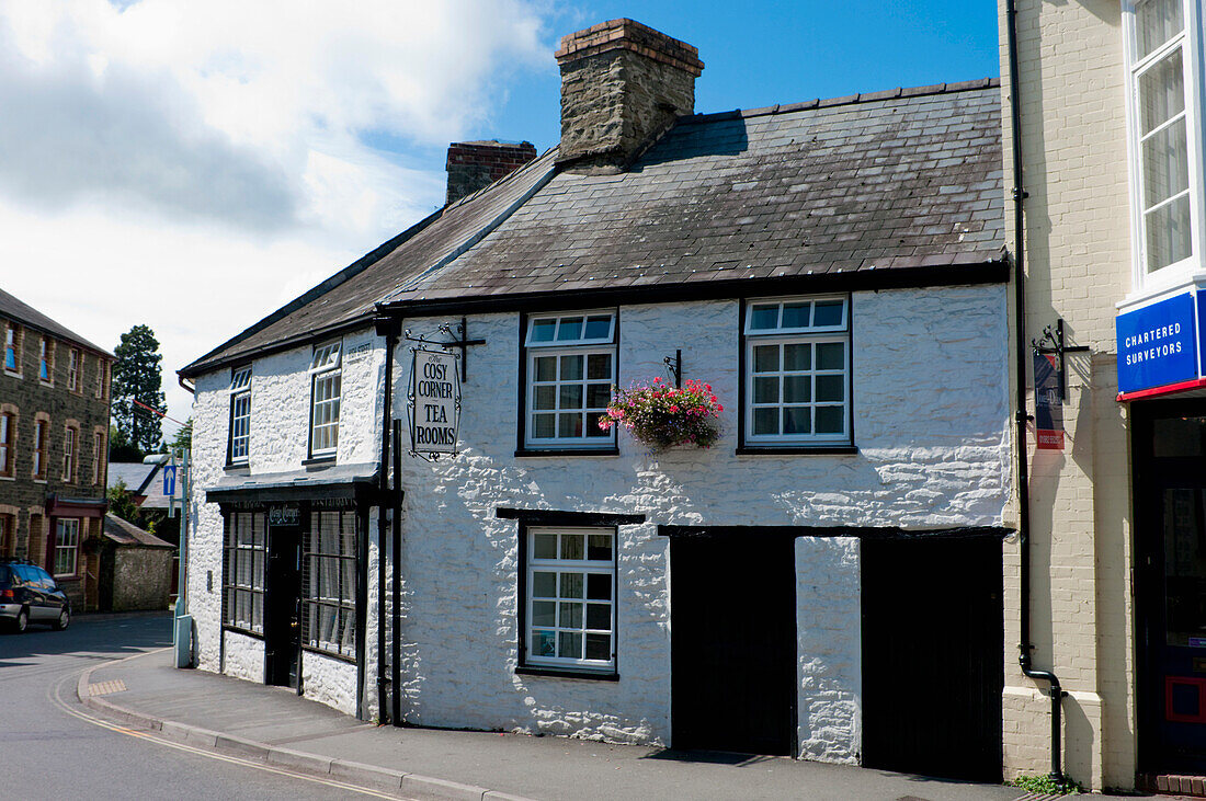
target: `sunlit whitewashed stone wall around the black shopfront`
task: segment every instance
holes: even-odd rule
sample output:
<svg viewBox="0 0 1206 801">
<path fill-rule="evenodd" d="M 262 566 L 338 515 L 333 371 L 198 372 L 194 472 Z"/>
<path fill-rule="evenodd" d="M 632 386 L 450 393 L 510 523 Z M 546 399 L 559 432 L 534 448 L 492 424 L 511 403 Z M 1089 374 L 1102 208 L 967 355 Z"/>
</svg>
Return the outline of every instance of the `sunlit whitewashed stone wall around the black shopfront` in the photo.
<svg viewBox="0 0 1206 801">
<path fill-rule="evenodd" d="M 370 330 L 343 337 L 344 361 L 338 464 L 380 460 L 380 418 L 385 389 L 385 343 Z M 298 471 L 308 455 L 312 348 L 306 346 L 257 359 L 252 364 L 251 440 L 246 471 L 251 475 Z M 217 671 L 222 614 L 222 516 L 205 502 L 205 490 L 226 476 L 230 371 L 200 376 L 193 399 L 192 513 L 188 605 L 195 620 L 198 666 Z M 369 520 L 369 625 L 365 636 L 369 666 L 365 709 L 376 701 L 376 517 Z M 212 589 L 206 578 L 212 575 Z M 321 654 L 303 656 L 303 687 L 309 697 L 350 714 L 356 712 L 356 666 Z M 233 632 L 226 635 L 226 672 L 262 682 L 264 643 Z"/>
</svg>

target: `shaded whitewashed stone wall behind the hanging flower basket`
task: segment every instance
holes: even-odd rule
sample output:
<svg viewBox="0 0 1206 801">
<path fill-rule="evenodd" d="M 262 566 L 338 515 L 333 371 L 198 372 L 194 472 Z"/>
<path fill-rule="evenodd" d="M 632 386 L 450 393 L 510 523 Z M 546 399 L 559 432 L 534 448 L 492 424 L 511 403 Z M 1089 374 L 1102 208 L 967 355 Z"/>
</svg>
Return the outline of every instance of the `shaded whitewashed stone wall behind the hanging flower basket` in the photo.
<svg viewBox="0 0 1206 801">
<path fill-rule="evenodd" d="M 620 381 L 684 372 L 713 384 L 725 436 L 709 450 L 516 458 L 516 314 L 469 319 L 464 453 L 406 459 L 403 707 L 415 724 L 669 738 L 668 544 L 658 524 L 999 525 L 1009 497 L 1003 287 L 856 293 L 854 455 L 737 457 L 738 304 L 625 307 Z M 432 320 L 432 324 L 443 320 Z M 420 326 L 422 328 L 422 326 Z M 399 377 L 409 354 L 399 349 Z M 394 414 L 405 416 L 405 379 Z M 514 675 L 516 523 L 497 507 L 644 513 L 621 526 L 619 682 Z M 855 761 L 860 748 L 859 549 L 800 542 L 800 750 Z M 806 625 L 808 624 L 808 625 Z"/>
</svg>

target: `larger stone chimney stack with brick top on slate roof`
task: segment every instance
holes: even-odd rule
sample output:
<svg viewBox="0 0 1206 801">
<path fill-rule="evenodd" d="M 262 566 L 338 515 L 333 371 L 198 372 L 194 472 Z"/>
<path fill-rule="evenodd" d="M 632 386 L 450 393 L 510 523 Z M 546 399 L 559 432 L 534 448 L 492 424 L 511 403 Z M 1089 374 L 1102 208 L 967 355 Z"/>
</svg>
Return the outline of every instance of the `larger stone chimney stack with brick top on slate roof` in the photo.
<svg viewBox="0 0 1206 801">
<path fill-rule="evenodd" d="M 625 170 L 674 120 L 695 112 L 699 51 L 632 19 L 561 40 L 558 163 Z"/>
</svg>

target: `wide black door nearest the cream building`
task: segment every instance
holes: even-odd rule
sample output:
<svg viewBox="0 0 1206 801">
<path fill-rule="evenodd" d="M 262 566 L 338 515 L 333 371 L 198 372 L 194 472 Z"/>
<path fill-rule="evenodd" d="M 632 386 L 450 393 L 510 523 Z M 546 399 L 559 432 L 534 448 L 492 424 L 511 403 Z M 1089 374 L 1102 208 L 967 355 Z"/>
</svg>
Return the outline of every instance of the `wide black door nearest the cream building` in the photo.
<svg viewBox="0 0 1206 801">
<path fill-rule="evenodd" d="M 862 542 L 862 764 L 1001 781 L 1001 541 Z"/>
</svg>

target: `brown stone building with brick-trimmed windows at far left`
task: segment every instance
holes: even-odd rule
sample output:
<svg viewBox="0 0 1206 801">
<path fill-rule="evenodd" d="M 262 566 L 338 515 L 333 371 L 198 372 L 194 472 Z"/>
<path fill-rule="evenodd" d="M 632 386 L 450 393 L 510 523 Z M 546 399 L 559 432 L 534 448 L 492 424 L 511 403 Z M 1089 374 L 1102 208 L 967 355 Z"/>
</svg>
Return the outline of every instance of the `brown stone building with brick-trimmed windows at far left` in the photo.
<svg viewBox="0 0 1206 801">
<path fill-rule="evenodd" d="M 4 290 L 0 329 L 0 555 L 46 567 L 93 608 L 115 358 Z"/>
</svg>

